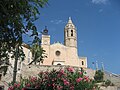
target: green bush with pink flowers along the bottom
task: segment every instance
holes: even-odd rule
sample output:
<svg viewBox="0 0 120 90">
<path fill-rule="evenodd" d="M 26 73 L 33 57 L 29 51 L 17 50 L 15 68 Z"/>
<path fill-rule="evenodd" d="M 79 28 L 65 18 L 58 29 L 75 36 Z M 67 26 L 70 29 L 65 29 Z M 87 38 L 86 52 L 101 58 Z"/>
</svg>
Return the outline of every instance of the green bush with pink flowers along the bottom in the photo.
<svg viewBox="0 0 120 90">
<path fill-rule="evenodd" d="M 11 85 L 8 90 L 97 90 L 94 80 L 84 72 L 67 67 L 60 70 L 40 72 L 37 77 L 22 79 L 20 83 Z"/>
</svg>

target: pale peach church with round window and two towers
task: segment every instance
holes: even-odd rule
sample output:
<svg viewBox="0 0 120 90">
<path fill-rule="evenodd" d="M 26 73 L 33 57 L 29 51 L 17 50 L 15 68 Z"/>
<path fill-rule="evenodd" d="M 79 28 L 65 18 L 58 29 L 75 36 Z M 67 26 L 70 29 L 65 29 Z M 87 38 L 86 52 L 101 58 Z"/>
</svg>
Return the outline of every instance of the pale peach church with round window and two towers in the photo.
<svg viewBox="0 0 120 90">
<path fill-rule="evenodd" d="M 78 56 L 77 30 L 70 17 L 64 28 L 64 44 L 59 42 L 50 44 L 47 29 L 43 31 L 41 41 L 41 46 L 47 55 L 42 65 L 69 65 L 87 68 L 87 57 Z"/>
</svg>

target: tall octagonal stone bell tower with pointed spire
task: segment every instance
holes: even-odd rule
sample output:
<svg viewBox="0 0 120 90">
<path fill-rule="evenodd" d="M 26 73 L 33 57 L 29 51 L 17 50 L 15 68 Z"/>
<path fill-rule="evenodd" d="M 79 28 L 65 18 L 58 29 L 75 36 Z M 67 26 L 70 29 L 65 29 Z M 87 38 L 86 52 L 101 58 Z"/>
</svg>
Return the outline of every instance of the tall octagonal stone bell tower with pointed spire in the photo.
<svg viewBox="0 0 120 90">
<path fill-rule="evenodd" d="M 71 17 L 69 17 L 68 23 L 64 28 L 64 44 L 68 47 L 77 48 L 77 31 Z"/>
</svg>

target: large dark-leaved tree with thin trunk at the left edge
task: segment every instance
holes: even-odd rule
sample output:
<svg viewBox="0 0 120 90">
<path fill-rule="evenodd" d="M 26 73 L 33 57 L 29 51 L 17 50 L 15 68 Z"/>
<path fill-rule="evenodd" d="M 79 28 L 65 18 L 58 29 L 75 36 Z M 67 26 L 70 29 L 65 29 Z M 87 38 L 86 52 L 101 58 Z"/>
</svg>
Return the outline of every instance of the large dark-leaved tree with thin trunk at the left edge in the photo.
<svg viewBox="0 0 120 90">
<path fill-rule="evenodd" d="M 48 0 L 0 0 L 0 61 L 7 63 L 9 54 L 15 58 L 13 82 L 16 80 L 18 58 L 23 58 L 23 34 L 38 36 L 34 21 Z M 36 39 L 36 38 L 35 38 Z M 7 63 L 9 64 L 9 63 Z"/>
</svg>

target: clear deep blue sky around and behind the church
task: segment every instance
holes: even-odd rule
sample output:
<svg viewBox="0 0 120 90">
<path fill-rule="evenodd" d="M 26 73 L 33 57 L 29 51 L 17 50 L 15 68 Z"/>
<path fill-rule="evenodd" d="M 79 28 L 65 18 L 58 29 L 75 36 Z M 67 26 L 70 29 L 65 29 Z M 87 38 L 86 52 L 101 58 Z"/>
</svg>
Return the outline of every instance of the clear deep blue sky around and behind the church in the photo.
<svg viewBox="0 0 120 90">
<path fill-rule="evenodd" d="M 120 74 L 120 0 L 49 0 L 40 9 L 35 22 L 38 31 L 45 26 L 51 35 L 51 43 L 64 41 L 64 26 L 68 17 L 77 28 L 78 54 L 92 62 L 101 62 L 107 71 Z"/>
</svg>

